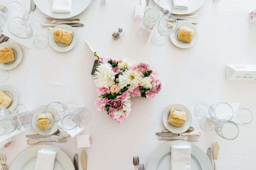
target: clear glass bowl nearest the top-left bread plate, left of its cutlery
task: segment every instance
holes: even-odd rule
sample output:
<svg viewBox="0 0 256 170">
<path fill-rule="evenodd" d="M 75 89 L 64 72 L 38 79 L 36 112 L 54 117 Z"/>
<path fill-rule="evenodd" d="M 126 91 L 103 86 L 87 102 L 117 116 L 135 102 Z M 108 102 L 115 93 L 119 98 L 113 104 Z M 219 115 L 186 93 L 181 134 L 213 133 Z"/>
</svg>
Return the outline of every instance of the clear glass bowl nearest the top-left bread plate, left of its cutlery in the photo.
<svg viewBox="0 0 256 170">
<path fill-rule="evenodd" d="M 8 30 L 18 38 L 29 39 L 33 36 L 30 24 L 20 17 L 12 18 L 8 23 Z"/>
</svg>

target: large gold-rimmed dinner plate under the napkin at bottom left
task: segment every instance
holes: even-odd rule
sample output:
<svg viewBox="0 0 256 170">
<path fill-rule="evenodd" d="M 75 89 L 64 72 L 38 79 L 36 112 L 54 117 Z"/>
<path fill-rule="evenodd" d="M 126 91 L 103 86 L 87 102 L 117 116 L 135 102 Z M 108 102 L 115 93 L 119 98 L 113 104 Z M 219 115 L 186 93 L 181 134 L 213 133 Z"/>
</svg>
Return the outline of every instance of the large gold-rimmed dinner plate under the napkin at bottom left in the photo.
<svg viewBox="0 0 256 170">
<path fill-rule="evenodd" d="M 31 170 L 35 168 L 37 151 L 45 149 L 56 152 L 53 170 L 74 170 L 70 157 L 56 146 L 40 144 L 21 151 L 12 161 L 9 170 Z M 46 162 L 47 163 L 47 162 Z"/>
</svg>

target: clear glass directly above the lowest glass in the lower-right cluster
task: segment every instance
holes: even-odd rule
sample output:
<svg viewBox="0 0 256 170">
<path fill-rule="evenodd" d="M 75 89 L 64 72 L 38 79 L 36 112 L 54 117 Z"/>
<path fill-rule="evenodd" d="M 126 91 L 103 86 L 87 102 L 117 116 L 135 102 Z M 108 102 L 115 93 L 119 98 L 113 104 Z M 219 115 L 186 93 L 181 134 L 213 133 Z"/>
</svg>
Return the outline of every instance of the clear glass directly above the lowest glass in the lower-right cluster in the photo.
<svg viewBox="0 0 256 170">
<path fill-rule="evenodd" d="M 233 108 L 227 103 L 215 103 L 209 107 L 209 115 L 213 120 L 228 122 L 233 118 Z"/>
</svg>

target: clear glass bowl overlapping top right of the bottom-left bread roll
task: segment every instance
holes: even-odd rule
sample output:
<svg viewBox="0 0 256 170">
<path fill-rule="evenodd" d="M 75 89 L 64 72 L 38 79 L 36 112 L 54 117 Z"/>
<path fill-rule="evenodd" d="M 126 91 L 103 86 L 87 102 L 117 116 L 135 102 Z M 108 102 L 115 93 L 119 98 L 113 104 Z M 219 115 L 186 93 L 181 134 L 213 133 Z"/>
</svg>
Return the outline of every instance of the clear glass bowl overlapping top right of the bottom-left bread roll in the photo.
<svg viewBox="0 0 256 170">
<path fill-rule="evenodd" d="M 52 118 L 46 117 L 52 122 L 58 122 L 63 118 L 65 113 L 68 111 L 68 108 L 65 104 L 61 102 L 52 102 L 49 105 L 46 106 L 45 113 L 51 113 Z"/>
</svg>

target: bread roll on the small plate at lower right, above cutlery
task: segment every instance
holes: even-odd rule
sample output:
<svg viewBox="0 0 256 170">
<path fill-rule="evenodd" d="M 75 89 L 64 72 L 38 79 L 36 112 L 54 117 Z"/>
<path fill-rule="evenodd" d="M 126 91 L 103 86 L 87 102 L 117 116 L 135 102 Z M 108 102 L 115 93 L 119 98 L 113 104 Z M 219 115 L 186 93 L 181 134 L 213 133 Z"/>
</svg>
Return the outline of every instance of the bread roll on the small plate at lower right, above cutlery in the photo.
<svg viewBox="0 0 256 170">
<path fill-rule="evenodd" d="M 187 114 L 183 111 L 171 110 L 168 118 L 168 123 L 174 127 L 181 127 L 187 121 Z"/>
</svg>

